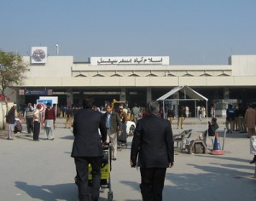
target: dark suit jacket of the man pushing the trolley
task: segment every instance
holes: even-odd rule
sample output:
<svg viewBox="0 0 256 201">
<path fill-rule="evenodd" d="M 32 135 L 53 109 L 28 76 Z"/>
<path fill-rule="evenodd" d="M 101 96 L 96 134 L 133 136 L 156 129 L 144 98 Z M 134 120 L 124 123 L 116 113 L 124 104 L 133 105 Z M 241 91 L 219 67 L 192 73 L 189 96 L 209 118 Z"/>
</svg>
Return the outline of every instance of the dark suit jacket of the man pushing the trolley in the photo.
<svg viewBox="0 0 256 201">
<path fill-rule="evenodd" d="M 101 135 L 99 135 L 99 129 Z M 102 141 L 107 140 L 107 129 L 101 112 L 81 109 L 74 115 L 73 150 L 71 157 L 102 157 Z"/>
</svg>

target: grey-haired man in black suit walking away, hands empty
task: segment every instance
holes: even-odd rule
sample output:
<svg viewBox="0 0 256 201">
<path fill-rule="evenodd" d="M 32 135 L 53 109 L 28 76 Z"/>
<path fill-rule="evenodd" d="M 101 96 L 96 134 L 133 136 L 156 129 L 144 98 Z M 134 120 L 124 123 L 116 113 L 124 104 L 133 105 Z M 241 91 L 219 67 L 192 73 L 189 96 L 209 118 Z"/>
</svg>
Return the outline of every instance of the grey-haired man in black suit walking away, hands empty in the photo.
<svg viewBox="0 0 256 201">
<path fill-rule="evenodd" d="M 160 201 L 166 177 L 166 168 L 172 168 L 174 148 L 171 123 L 157 116 L 160 105 L 148 102 L 149 116 L 137 121 L 131 144 L 131 167 L 140 167 L 140 185 L 143 201 Z"/>
</svg>

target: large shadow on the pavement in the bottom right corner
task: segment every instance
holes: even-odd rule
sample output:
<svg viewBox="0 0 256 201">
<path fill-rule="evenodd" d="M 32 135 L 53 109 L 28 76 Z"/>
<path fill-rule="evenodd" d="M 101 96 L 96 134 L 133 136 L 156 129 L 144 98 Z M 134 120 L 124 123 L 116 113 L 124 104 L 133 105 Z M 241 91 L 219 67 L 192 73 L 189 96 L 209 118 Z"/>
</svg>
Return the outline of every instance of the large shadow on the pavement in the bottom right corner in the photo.
<svg viewBox="0 0 256 201">
<path fill-rule="evenodd" d="M 201 169 L 197 174 L 166 173 L 166 181 L 172 185 L 164 188 L 164 197 L 173 200 L 243 200 L 239 187 L 255 187 L 255 180 L 247 172 L 223 167 L 188 164 L 195 169 Z M 225 165 L 224 165 L 225 166 Z M 227 165 L 229 167 L 229 165 Z M 232 167 L 231 168 L 236 168 Z M 242 168 L 242 167 L 241 167 Z M 190 169 L 188 167 L 188 169 Z M 252 171 L 253 172 L 253 171 Z M 252 189 L 247 189 L 248 192 Z M 247 192 L 244 192 L 247 193 Z M 247 194 L 246 200 L 255 198 Z"/>
</svg>

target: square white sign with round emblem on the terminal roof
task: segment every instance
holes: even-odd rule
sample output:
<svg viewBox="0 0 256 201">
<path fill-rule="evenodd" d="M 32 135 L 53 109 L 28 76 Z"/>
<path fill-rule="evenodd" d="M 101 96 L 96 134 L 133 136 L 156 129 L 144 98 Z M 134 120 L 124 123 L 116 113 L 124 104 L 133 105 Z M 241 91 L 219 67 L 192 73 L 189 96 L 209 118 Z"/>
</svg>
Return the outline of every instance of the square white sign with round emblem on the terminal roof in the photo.
<svg viewBox="0 0 256 201">
<path fill-rule="evenodd" d="M 47 61 L 47 47 L 32 47 L 31 63 L 45 64 Z"/>
</svg>

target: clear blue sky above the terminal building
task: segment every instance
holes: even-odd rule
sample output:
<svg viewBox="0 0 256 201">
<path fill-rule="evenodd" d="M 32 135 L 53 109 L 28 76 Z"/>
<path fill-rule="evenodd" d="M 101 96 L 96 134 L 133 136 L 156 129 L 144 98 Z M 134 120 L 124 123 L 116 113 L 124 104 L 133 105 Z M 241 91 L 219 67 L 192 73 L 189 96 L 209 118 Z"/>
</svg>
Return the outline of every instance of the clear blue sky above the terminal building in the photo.
<svg viewBox="0 0 256 201">
<path fill-rule="evenodd" d="M 27 55 L 170 56 L 171 65 L 256 55 L 255 0 L 1 0 L 0 49 Z"/>
</svg>

